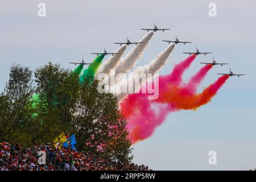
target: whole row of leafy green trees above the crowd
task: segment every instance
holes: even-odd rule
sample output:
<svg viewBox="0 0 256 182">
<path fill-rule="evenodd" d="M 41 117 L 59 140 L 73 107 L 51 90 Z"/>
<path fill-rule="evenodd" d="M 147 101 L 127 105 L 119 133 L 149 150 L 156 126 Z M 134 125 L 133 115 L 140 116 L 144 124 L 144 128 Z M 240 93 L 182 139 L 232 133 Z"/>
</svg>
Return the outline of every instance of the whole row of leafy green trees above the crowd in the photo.
<svg viewBox="0 0 256 182">
<path fill-rule="evenodd" d="M 0 95 L 0 140 L 53 143 L 61 132 L 75 134 L 79 150 L 129 161 L 126 120 L 112 93 L 99 93 L 98 81 L 48 63 L 34 72 L 12 65 Z"/>
</svg>

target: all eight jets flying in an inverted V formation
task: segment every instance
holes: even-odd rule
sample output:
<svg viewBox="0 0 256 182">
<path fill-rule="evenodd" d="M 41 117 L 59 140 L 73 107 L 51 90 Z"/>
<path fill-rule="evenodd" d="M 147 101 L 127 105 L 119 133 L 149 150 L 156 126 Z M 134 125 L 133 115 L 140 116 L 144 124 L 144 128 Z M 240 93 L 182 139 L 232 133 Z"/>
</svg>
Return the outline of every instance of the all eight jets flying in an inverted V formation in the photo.
<svg viewBox="0 0 256 182">
<path fill-rule="evenodd" d="M 166 31 L 166 30 L 171 30 L 170 28 L 158 28 L 156 26 L 156 24 L 154 23 L 154 28 L 141 28 L 141 30 L 146 30 L 146 31 L 154 31 L 154 32 L 157 32 L 157 31 Z M 175 44 L 188 44 L 188 43 L 192 43 L 192 42 L 183 42 L 183 41 L 180 41 L 177 36 L 176 36 L 176 39 L 175 40 L 162 40 L 163 42 L 167 42 L 167 43 L 175 43 Z M 130 46 L 131 44 L 142 44 L 143 42 L 130 42 L 130 40 L 128 39 L 127 37 L 127 41 L 126 42 L 116 42 L 114 44 L 120 44 L 120 46 L 122 46 L 123 44 L 126 44 L 127 46 Z M 212 52 L 200 52 L 199 49 L 197 49 L 196 47 L 196 52 L 183 52 L 185 54 L 189 54 L 189 55 L 208 55 L 208 54 L 211 54 Z M 105 47 L 104 47 L 104 52 L 102 53 L 95 53 L 95 52 L 92 52 L 91 54 L 93 55 L 115 55 L 115 54 L 118 54 L 117 52 L 113 52 L 113 53 L 109 53 L 105 50 Z M 82 58 L 82 62 L 81 63 L 73 63 L 73 62 L 70 62 L 71 64 L 82 64 L 82 65 L 86 65 L 86 64 L 92 64 L 92 63 L 85 63 L 84 62 L 84 57 Z M 228 63 L 217 63 L 216 60 L 214 60 L 214 57 L 213 57 L 213 60 L 212 62 L 201 62 L 200 64 L 206 64 L 206 65 L 226 65 Z M 228 75 L 228 76 L 243 76 L 244 74 L 234 74 L 232 71 L 231 71 L 231 68 L 230 68 L 230 71 L 229 73 L 217 73 L 218 75 Z"/>
</svg>

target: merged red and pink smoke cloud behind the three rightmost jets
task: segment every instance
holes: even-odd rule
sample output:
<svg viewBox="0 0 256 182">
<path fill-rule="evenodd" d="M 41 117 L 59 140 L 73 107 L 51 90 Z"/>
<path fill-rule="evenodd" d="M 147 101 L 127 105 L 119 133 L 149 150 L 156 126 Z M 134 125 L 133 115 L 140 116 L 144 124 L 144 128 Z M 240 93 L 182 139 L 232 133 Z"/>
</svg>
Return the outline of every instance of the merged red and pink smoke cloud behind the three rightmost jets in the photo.
<svg viewBox="0 0 256 182">
<path fill-rule="evenodd" d="M 187 85 L 180 85 L 181 76 L 195 57 L 195 55 L 188 57 L 187 60 L 176 65 L 170 75 L 159 78 L 160 90 L 157 100 L 148 100 L 148 94 L 135 93 L 130 94 L 120 103 L 122 114 L 128 121 L 127 130 L 133 144 L 150 137 L 156 127 L 164 122 L 170 111 L 197 109 L 207 104 L 229 78 L 229 76 L 222 76 L 202 93 L 196 94 L 196 87 L 212 68 L 205 66 L 191 78 Z"/>
</svg>

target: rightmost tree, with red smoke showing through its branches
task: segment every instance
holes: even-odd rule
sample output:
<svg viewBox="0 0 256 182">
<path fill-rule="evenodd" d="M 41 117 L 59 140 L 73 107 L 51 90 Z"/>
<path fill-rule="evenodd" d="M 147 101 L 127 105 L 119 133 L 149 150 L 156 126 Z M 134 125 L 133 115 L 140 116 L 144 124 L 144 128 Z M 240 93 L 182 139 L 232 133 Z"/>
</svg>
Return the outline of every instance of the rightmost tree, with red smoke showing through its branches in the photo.
<svg viewBox="0 0 256 182">
<path fill-rule="evenodd" d="M 98 81 L 81 85 L 69 133 L 75 133 L 79 147 L 104 155 L 106 158 L 130 160 L 130 140 L 126 120 L 118 110 L 117 97 L 112 93 L 99 93 Z M 86 142 L 85 142 L 86 141 Z"/>
</svg>

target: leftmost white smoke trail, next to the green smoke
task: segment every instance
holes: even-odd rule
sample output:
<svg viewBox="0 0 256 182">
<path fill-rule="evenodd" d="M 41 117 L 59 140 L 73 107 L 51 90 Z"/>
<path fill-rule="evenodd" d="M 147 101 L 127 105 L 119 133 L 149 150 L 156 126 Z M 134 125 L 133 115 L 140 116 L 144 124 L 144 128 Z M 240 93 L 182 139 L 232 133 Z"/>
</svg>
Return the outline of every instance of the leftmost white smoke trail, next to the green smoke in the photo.
<svg viewBox="0 0 256 182">
<path fill-rule="evenodd" d="M 99 74 L 101 73 L 105 73 L 106 76 L 108 76 L 110 74 L 111 69 L 115 68 L 119 61 L 121 60 L 123 53 L 125 53 L 127 46 L 123 45 L 121 46 L 118 50 L 116 55 L 110 57 L 108 60 L 106 60 L 103 64 L 100 65 L 100 67 L 98 68 L 98 71 L 95 74 L 95 77 L 97 78 Z M 105 77 L 102 77 L 103 79 Z"/>
</svg>

